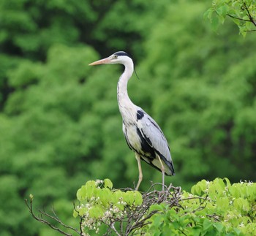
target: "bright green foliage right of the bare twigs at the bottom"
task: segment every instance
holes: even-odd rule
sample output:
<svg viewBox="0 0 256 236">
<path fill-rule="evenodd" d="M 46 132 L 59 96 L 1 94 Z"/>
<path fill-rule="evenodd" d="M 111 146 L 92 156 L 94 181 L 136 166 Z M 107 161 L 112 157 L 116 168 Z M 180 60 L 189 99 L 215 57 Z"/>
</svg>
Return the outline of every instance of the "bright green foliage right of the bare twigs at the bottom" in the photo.
<svg viewBox="0 0 256 236">
<path fill-rule="evenodd" d="M 254 235 L 256 184 L 216 178 L 184 191 L 176 207 L 152 205 L 148 235 Z"/>
</svg>

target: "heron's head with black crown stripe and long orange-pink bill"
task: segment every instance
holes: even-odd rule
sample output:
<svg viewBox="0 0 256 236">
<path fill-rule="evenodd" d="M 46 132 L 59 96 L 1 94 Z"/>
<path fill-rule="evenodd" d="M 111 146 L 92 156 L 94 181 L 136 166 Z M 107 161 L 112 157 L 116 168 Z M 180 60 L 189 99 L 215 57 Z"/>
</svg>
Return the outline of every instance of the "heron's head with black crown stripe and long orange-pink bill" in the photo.
<svg viewBox="0 0 256 236">
<path fill-rule="evenodd" d="M 109 56 L 108 58 L 101 59 L 99 61 L 94 61 L 89 66 L 95 66 L 99 64 L 126 64 L 132 63 L 132 58 L 123 51 L 117 52 Z M 133 63 L 132 63 L 133 64 Z"/>
</svg>

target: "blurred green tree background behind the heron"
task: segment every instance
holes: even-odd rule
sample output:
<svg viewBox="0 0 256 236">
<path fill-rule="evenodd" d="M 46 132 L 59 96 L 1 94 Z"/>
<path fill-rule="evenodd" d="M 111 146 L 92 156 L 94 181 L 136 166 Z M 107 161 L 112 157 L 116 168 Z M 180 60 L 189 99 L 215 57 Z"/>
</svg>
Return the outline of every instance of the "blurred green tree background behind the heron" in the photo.
<svg viewBox="0 0 256 236">
<path fill-rule="evenodd" d="M 121 131 L 122 66 L 88 66 L 125 50 L 140 80 L 129 96 L 169 141 L 183 189 L 206 178 L 256 179 L 256 33 L 203 20 L 211 1 L 1 0 L 1 235 L 56 235 L 31 218 L 52 205 L 67 224 L 87 180 L 138 180 Z M 143 163 L 142 191 L 161 181 Z"/>
</svg>

